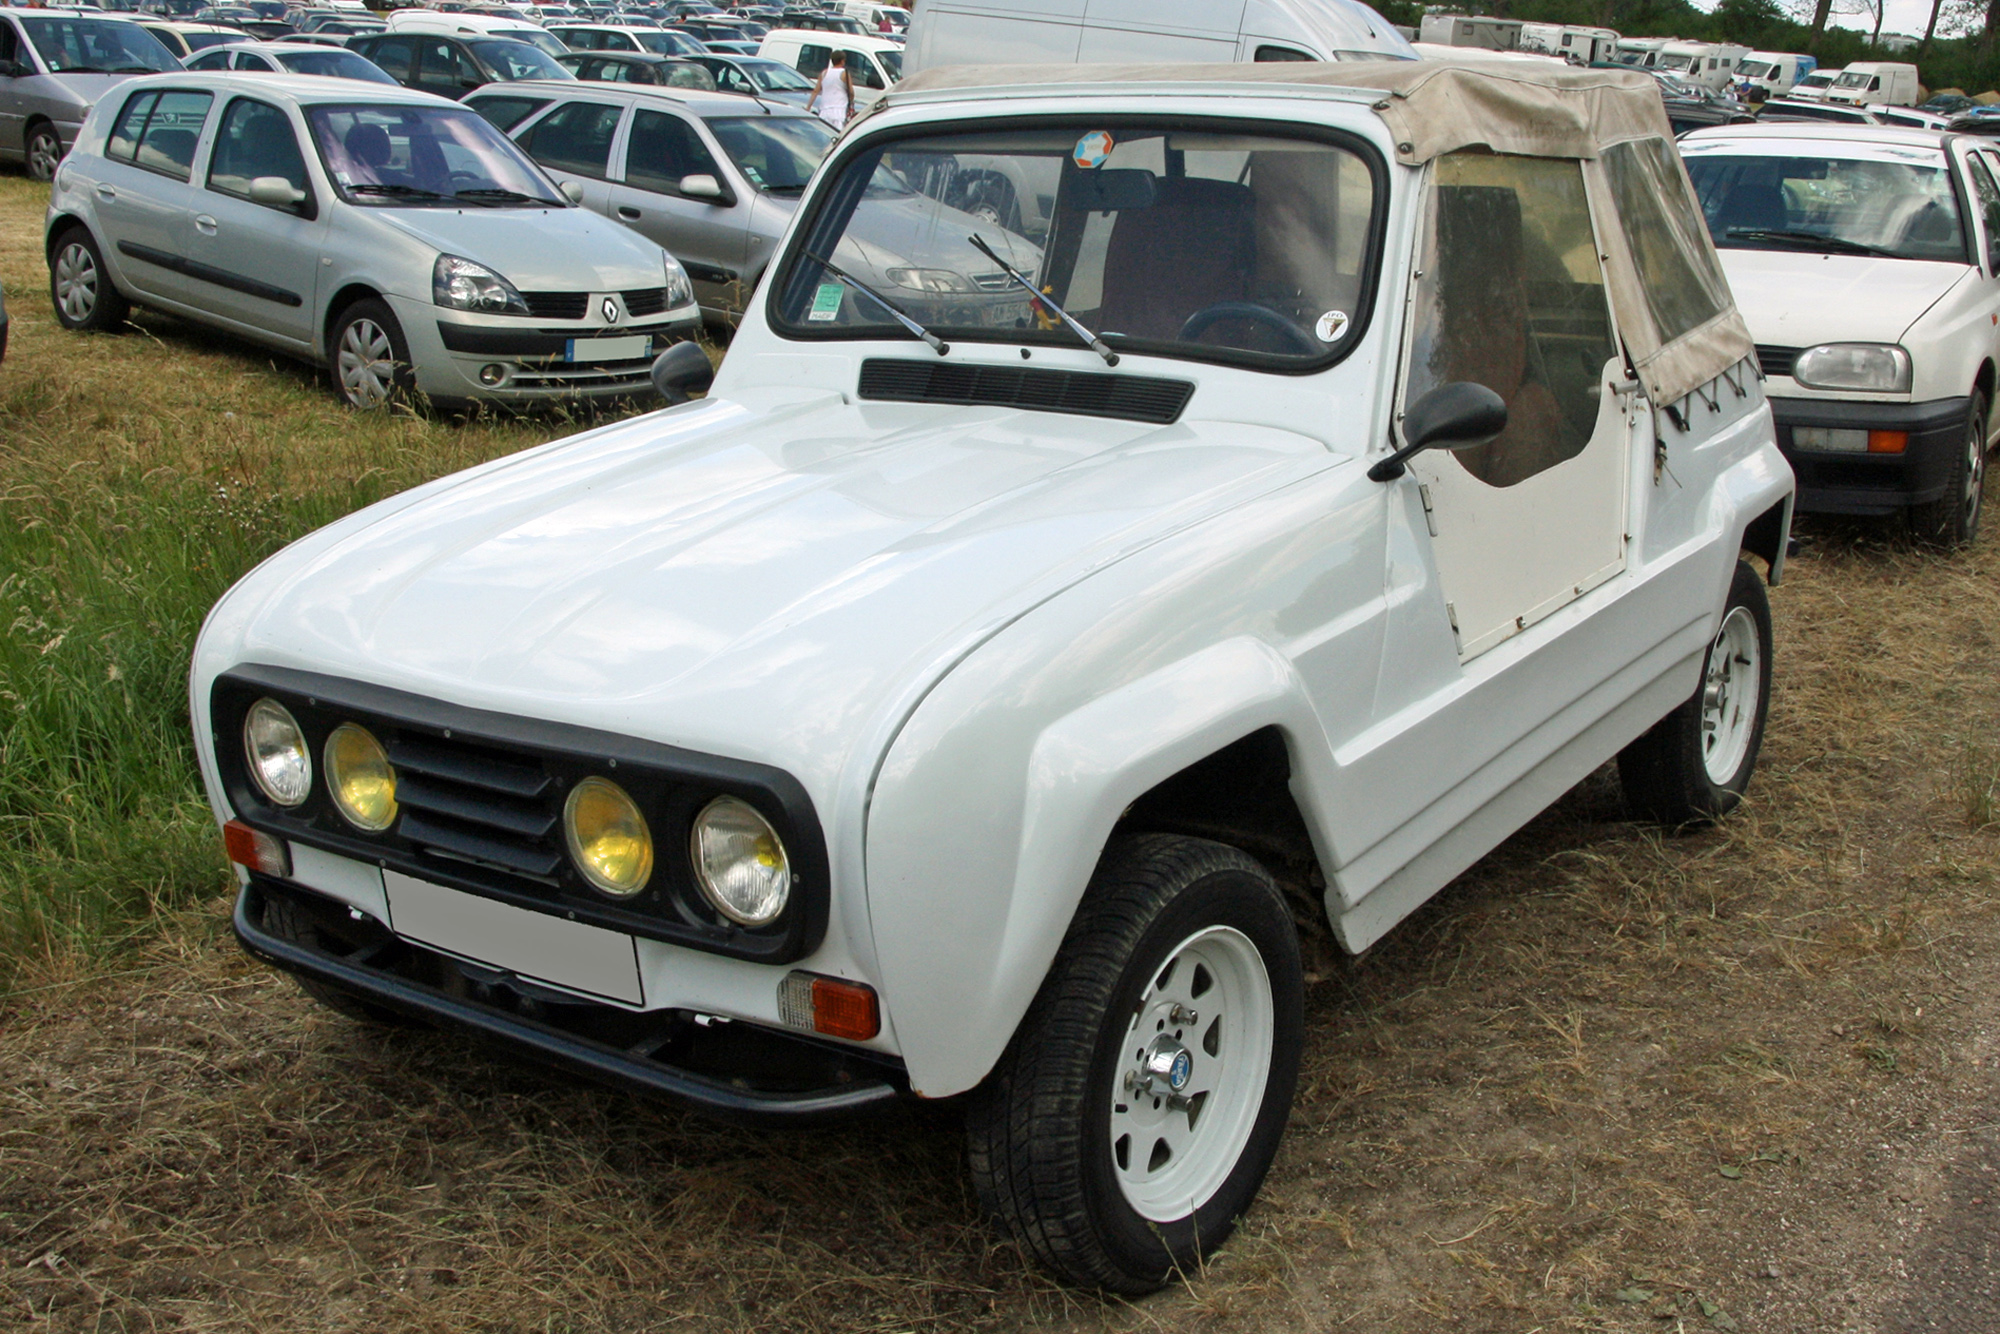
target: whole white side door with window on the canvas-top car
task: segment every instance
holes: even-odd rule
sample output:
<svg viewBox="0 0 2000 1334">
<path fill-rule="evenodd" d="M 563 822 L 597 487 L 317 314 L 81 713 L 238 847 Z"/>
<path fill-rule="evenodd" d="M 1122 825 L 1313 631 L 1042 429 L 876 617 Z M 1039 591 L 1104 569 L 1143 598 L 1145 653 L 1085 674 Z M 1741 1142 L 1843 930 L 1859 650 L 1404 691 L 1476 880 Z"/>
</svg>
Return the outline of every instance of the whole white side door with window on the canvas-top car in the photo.
<svg viewBox="0 0 2000 1334">
<path fill-rule="evenodd" d="M 1624 568 L 1634 426 L 1578 162 L 1446 154 L 1424 228 L 1402 406 L 1458 380 L 1508 404 L 1490 444 L 1410 464 L 1470 662 Z"/>
</svg>

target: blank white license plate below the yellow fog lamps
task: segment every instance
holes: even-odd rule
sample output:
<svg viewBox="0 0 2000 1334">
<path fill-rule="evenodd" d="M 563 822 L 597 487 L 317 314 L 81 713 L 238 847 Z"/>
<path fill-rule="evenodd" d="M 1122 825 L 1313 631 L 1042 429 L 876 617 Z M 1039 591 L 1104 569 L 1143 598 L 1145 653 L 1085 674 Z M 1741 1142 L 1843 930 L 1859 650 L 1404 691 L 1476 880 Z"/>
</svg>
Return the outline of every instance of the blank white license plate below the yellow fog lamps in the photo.
<svg viewBox="0 0 2000 1334">
<path fill-rule="evenodd" d="M 384 870 L 388 924 L 398 936 L 474 964 L 590 996 L 644 1004 L 632 936 L 530 912 Z"/>
</svg>

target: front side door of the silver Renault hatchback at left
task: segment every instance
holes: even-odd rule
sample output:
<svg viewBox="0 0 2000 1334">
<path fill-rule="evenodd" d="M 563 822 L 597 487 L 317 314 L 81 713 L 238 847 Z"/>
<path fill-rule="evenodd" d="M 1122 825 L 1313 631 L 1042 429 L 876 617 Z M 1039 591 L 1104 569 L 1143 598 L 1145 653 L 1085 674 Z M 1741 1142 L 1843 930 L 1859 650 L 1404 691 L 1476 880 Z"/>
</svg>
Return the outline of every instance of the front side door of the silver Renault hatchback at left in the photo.
<svg viewBox="0 0 2000 1334">
<path fill-rule="evenodd" d="M 288 112 L 256 98 L 222 110 L 188 232 L 188 300 L 232 326 L 312 350 L 330 200 L 318 198 Z M 258 204 L 250 182 L 280 176 L 304 198 Z"/>
</svg>

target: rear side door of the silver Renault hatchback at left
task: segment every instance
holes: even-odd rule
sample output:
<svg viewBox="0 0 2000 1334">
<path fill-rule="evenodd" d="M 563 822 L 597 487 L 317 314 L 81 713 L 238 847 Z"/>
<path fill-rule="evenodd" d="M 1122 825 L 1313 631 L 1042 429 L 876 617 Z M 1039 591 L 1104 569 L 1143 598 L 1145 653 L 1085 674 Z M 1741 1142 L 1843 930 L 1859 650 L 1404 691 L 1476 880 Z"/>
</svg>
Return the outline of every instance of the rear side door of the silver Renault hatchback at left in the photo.
<svg viewBox="0 0 2000 1334">
<path fill-rule="evenodd" d="M 98 242 L 138 298 L 186 300 L 194 154 L 214 94 L 148 88 L 126 98 L 98 158 L 92 212 Z"/>
</svg>

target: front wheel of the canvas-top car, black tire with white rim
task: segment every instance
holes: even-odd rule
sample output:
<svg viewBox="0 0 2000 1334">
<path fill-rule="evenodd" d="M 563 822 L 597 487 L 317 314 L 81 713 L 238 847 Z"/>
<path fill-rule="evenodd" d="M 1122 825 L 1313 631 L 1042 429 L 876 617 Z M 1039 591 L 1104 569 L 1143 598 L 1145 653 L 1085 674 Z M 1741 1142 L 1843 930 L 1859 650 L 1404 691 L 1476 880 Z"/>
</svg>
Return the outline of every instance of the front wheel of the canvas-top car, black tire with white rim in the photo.
<svg viewBox="0 0 2000 1334">
<path fill-rule="evenodd" d="M 1228 946 L 1236 958 L 1246 958 L 1248 942 L 1262 964 L 1268 1054 L 1260 1054 L 1254 1040 L 1260 1028 L 1252 1018 L 1256 984 L 1242 986 L 1254 970 L 1236 970 L 1232 980 L 1206 974 L 1198 962 L 1182 968 L 1204 948 L 1196 940 L 1202 932 L 1214 932 L 1206 948 Z M 1198 990 L 1204 976 L 1206 992 Z M 1180 986 L 1190 988 L 1190 1002 L 1212 996 L 1214 1004 L 1196 1006 L 1192 1018 L 1180 1008 L 1166 1010 Z M 1206 1024 L 1204 1008 L 1210 1010 Z M 1148 1020 L 1176 1028 L 1154 1030 Z M 1178 1026 L 1182 1020 L 1186 1030 Z M 1218 1040 L 1222 1032 L 1240 1036 L 1242 1028 L 1252 1038 Z M 1154 1036 L 1134 1048 L 1140 1032 Z M 1228 1240 L 1270 1170 L 1292 1110 L 1302 1032 L 1298 932 L 1284 894 L 1260 864 L 1224 844 L 1168 834 L 1142 834 L 1112 846 L 1042 990 L 968 1104 L 966 1134 L 980 1204 L 1036 1260 L 1088 1288 L 1140 1294 L 1176 1272 L 1194 1272 Z M 1180 1070 L 1184 1082 L 1172 1084 L 1168 1076 L 1162 1096 L 1144 1088 L 1134 1096 L 1130 1078 L 1140 1054 L 1172 1054 L 1180 1038 L 1186 1038 L 1188 1056 Z M 1260 1056 L 1268 1056 L 1268 1066 L 1262 1090 L 1254 1090 Z M 1194 1088 L 1196 1072 L 1214 1080 L 1214 1092 L 1196 1092 L 1188 1098 L 1192 1106 L 1174 1106 L 1180 1098 L 1172 1090 Z M 1228 1086 L 1230 1074 L 1244 1078 Z M 1210 1110 L 1212 1118 L 1198 1120 Z M 1138 1130 L 1134 1118 L 1154 1116 L 1158 1136 L 1168 1136 L 1182 1134 L 1174 1122 L 1182 1114 L 1188 1116 L 1188 1152 L 1162 1160 L 1166 1140 L 1152 1138 L 1154 1130 Z M 1114 1124 L 1118 1116 L 1126 1120 Z M 1118 1136 L 1120 1124 L 1134 1128 Z M 1208 1140 L 1200 1138 L 1202 1126 Z M 1142 1136 L 1138 1144 L 1134 1134 Z M 1132 1168 L 1140 1152 L 1148 1158 L 1144 1172 Z M 1146 1188 L 1140 1178 L 1152 1172 L 1166 1182 L 1176 1166 L 1202 1170 L 1204 1178 L 1226 1174 L 1192 1208 L 1162 1206 L 1152 1212 L 1180 1212 L 1146 1218 L 1128 1190 Z"/>
</svg>

